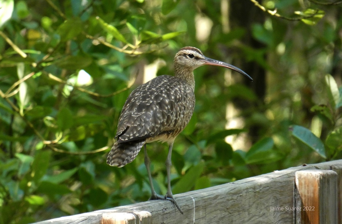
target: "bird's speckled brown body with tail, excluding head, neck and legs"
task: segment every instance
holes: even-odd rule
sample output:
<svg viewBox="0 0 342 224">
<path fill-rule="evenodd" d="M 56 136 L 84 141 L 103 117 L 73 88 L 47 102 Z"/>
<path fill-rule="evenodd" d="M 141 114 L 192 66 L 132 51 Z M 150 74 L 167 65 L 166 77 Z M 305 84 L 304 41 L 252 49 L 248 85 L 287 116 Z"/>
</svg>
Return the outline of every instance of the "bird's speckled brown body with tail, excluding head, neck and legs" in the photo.
<svg viewBox="0 0 342 224">
<path fill-rule="evenodd" d="M 173 141 L 190 121 L 194 106 L 192 87 L 177 77 L 158 76 L 140 85 L 123 106 L 107 163 L 121 167 L 132 162 L 145 143 Z"/>
</svg>

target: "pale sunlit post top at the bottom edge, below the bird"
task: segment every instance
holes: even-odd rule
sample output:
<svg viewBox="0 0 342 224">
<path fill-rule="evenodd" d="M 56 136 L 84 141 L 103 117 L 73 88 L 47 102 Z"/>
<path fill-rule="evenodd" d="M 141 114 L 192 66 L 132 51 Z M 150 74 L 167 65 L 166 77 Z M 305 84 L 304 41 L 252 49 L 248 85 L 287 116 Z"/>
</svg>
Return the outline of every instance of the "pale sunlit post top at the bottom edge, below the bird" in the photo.
<svg viewBox="0 0 342 224">
<path fill-rule="evenodd" d="M 107 212 L 102 214 L 101 224 L 152 224 L 152 214 L 148 211 Z"/>
</svg>

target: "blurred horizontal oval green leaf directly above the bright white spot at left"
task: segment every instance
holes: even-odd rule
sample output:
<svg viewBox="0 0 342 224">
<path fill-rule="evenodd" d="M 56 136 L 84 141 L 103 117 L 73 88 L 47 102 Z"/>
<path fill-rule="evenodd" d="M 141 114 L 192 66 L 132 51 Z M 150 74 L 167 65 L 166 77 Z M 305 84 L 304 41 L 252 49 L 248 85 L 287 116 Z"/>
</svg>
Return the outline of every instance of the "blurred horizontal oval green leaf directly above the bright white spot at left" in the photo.
<svg viewBox="0 0 342 224">
<path fill-rule="evenodd" d="M 93 62 L 91 57 L 81 55 L 67 55 L 59 60 L 56 60 L 54 64 L 60 68 L 68 70 L 82 69 L 89 66 Z"/>
</svg>

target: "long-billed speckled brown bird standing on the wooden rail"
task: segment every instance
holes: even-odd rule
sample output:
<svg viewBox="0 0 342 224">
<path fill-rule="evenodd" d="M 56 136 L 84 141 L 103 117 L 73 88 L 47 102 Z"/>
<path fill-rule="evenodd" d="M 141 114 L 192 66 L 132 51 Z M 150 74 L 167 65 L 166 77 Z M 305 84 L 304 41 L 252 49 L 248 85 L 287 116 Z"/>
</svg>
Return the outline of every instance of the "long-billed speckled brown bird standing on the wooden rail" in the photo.
<svg viewBox="0 0 342 224">
<path fill-rule="evenodd" d="M 111 148 L 107 164 L 122 167 L 134 160 L 144 147 L 144 163 L 148 173 L 152 199 L 167 199 L 183 214 L 171 191 L 170 169 L 173 142 L 189 123 L 195 107 L 194 69 L 202 65 L 222 66 L 253 79 L 241 69 L 208 58 L 195 47 L 183 47 L 174 57 L 174 76 L 161 75 L 138 86 L 128 96 L 119 116 L 116 142 Z M 150 171 L 146 144 L 166 142 L 167 193 L 158 195 Z"/>
</svg>

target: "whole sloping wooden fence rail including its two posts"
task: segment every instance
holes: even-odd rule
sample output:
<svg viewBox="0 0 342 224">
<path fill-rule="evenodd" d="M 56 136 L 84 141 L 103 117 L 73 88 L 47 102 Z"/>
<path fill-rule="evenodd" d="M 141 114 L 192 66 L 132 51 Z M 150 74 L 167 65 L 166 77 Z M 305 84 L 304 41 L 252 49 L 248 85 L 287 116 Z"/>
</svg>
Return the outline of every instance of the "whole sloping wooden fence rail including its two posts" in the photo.
<svg viewBox="0 0 342 224">
<path fill-rule="evenodd" d="M 342 160 L 302 165 L 206 189 L 39 224 L 339 223 Z"/>
</svg>

